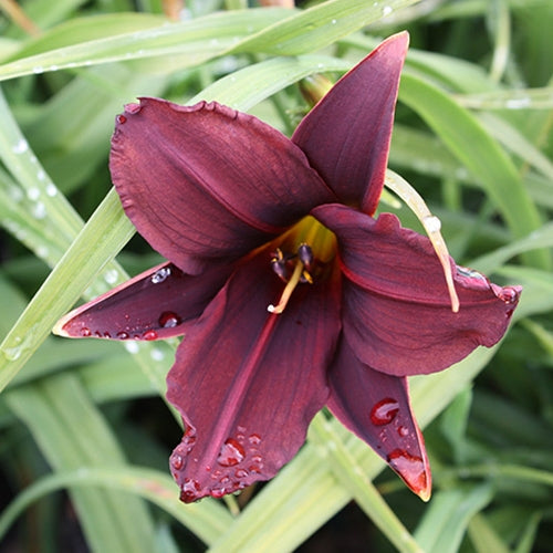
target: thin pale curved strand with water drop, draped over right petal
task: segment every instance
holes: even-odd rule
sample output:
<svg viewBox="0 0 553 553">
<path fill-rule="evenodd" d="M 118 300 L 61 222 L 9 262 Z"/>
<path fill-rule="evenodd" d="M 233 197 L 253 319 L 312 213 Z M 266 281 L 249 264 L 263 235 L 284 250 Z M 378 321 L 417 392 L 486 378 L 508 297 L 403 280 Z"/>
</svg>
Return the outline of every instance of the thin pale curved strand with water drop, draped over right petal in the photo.
<svg viewBox="0 0 553 553">
<path fill-rule="evenodd" d="M 415 188 L 413 188 L 407 180 L 393 170 L 386 170 L 386 179 L 384 184 L 390 190 L 394 190 L 394 192 L 396 192 L 397 196 L 399 196 L 407 204 L 407 206 L 409 206 L 425 227 L 428 238 L 432 243 L 434 251 L 436 251 L 444 269 L 444 275 L 446 276 L 446 283 L 449 291 L 449 299 L 451 301 L 451 311 L 457 313 L 459 311 L 459 296 L 457 295 L 453 284 L 453 274 L 451 272 L 449 252 L 440 233 L 440 220 L 430 212 L 428 206 L 425 204 L 425 200 L 419 196 Z"/>
</svg>

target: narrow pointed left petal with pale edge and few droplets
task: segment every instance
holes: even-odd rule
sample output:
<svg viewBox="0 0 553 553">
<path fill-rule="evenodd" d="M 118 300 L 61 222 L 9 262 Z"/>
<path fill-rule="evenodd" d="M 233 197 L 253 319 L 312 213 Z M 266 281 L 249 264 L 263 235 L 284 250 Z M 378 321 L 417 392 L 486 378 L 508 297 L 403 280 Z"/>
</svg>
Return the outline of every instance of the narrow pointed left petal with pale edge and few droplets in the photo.
<svg viewBox="0 0 553 553">
<path fill-rule="evenodd" d="M 67 313 L 53 332 L 65 337 L 158 340 L 184 334 L 217 294 L 231 267 L 199 276 L 173 263 L 155 267 Z"/>
</svg>

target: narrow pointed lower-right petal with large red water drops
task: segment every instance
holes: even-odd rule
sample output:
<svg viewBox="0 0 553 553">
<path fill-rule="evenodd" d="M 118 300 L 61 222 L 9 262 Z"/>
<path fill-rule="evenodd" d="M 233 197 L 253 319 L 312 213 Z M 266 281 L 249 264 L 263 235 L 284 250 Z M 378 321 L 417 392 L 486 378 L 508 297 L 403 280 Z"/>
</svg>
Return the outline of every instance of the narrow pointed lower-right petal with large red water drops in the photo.
<svg viewBox="0 0 553 553">
<path fill-rule="evenodd" d="M 427 501 L 431 490 L 430 467 L 410 407 L 407 379 L 363 364 L 342 338 L 328 382 L 327 405 L 334 416 Z"/>
</svg>

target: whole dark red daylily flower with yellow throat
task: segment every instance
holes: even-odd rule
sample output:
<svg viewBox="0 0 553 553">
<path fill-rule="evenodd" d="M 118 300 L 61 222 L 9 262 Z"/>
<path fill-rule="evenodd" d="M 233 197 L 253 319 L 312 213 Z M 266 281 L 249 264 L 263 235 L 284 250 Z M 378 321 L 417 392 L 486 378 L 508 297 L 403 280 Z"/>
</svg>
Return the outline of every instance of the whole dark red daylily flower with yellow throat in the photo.
<svg viewBox="0 0 553 553">
<path fill-rule="evenodd" d="M 380 197 L 408 36 L 380 44 L 292 139 L 217 103 L 142 98 L 117 117 L 123 207 L 170 262 L 66 315 L 65 336 L 184 334 L 168 399 L 186 431 L 170 467 L 186 502 L 265 480 L 325 405 L 427 499 L 406 377 L 504 334 L 520 288 L 455 265 L 460 310 L 426 237 Z"/>
</svg>

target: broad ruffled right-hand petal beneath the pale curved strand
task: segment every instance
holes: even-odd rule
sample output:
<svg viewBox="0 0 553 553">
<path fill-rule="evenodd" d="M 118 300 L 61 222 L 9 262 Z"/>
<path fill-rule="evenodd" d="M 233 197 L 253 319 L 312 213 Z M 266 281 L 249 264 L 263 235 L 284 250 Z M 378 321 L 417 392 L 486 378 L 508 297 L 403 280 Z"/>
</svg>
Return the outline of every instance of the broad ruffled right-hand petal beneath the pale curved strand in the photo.
<svg viewBox="0 0 553 553">
<path fill-rule="evenodd" d="M 401 228 L 390 213 L 375 220 L 328 205 L 312 215 L 336 233 L 346 276 L 344 333 L 363 363 L 396 376 L 434 373 L 479 345 L 492 346 L 505 333 L 520 286 L 500 288 L 453 264 L 460 309 L 452 313 L 441 265 L 426 237 Z"/>
</svg>

